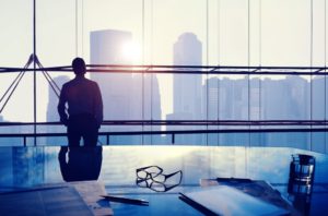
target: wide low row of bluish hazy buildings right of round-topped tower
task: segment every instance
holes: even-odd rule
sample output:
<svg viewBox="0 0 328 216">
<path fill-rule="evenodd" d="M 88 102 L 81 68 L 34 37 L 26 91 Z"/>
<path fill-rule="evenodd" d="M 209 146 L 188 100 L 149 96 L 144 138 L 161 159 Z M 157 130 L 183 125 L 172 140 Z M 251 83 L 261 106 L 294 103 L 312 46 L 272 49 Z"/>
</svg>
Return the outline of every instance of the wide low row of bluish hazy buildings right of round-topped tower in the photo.
<svg viewBox="0 0 328 216">
<path fill-rule="evenodd" d="M 202 104 L 202 109 L 209 111 L 210 120 L 297 120 L 308 119 L 311 111 L 309 83 L 300 76 L 286 76 L 281 80 L 251 79 L 249 92 L 247 77 L 232 80 L 224 77 L 218 80 L 211 77 L 203 85 L 203 96 L 208 101 Z M 207 89 L 208 85 L 208 89 Z M 313 119 L 324 119 L 324 79 L 313 80 L 312 91 Z M 248 96 L 249 93 L 249 96 Z M 206 94 L 209 94 L 206 96 Z M 248 101 L 249 99 L 249 101 Z M 248 112 L 249 109 L 249 112 Z M 234 127 L 220 127 L 220 129 L 233 129 Z M 259 127 L 253 127 L 256 129 Z M 266 128 L 266 127 L 262 127 Z M 215 129 L 212 127 L 210 129 Z M 248 129 L 245 127 L 244 129 Z M 323 142 L 324 135 L 313 135 L 313 139 Z M 211 135 L 209 145 L 266 145 L 266 146 L 293 146 L 308 148 L 308 134 L 306 133 L 251 133 L 250 140 L 247 133 Z M 319 142 L 317 142 L 319 143 Z M 314 148 L 315 146 L 313 146 Z M 321 149 L 319 149 L 321 151 Z"/>
</svg>

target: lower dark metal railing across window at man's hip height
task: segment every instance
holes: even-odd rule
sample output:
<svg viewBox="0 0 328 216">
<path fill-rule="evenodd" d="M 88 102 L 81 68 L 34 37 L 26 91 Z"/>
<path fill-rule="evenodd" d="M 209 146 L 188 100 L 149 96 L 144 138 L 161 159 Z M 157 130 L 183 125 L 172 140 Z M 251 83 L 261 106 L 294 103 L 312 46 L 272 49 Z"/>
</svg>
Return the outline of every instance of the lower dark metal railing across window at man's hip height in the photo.
<svg viewBox="0 0 328 216">
<path fill-rule="evenodd" d="M 1 122 L 0 127 L 14 125 L 61 125 L 60 122 Z M 319 120 L 266 120 L 266 121 L 201 121 L 201 120 L 173 120 L 173 121 L 127 121 L 115 120 L 104 121 L 103 125 L 227 125 L 227 127 L 248 127 L 247 129 L 207 129 L 207 130 L 165 130 L 165 131 L 115 131 L 115 132 L 99 132 L 99 136 L 106 137 L 106 145 L 110 144 L 113 136 L 136 136 L 136 135 L 171 135 L 172 144 L 175 144 L 175 136 L 178 134 L 222 134 L 222 133 L 304 133 L 304 132 L 328 132 L 326 125 L 328 121 Z M 249 127 L 294 127 L 294 128 L 255 128 Z M 311 125 L 311 128 L 308 128 Z M 307 127 L 307 128 L 301 128 Z M 316 127 L 316 128 L 313 128 Z M 318 128 L 319 127 L 319 128 Z M 324 128 L 323 128 L 324 127 Z M 0 137 L 21 137 L 23 145 L 27 145 L 27 137 L 58 137 L 67 136 L 67 133 L 2 133 Z"/>
</svg>

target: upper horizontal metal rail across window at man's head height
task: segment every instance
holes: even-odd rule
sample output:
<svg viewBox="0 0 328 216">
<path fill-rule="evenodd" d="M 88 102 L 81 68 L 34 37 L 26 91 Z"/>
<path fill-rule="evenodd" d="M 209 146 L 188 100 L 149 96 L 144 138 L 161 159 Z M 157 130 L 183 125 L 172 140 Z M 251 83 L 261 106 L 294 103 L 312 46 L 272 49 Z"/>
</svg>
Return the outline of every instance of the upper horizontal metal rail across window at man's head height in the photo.
<svg viewBox="0 0 328 216">
<path fill-rule="evenodd" d="M 156 73 L 156 74 L 216 74 L 216 75 L 327 75 L 327 67 L 235 67 L 235 65 L 127 65 L 87 64 L 87 72 L 96 73 Z M 40 69 L 0 67 L 9 72 L 72 72 L 71 65 Z"/>
</svg>

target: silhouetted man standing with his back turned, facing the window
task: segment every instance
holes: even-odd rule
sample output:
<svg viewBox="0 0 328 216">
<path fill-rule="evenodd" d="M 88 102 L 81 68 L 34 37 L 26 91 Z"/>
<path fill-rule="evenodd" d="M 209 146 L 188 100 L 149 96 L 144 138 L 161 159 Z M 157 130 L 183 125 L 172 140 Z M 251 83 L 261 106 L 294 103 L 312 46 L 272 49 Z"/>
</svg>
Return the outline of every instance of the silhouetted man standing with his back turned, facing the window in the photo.
<svg viewBox="0 0 328 216">
<path fill-rule="evenodd" d="M 84 77 L 85 62 L 82 58 L 72 61 L 75 77 L 62 85 L 58 113 L 60 122 L 67 127 L 69 146 L 95 146 L 98 129 L 103 121 L 103 100 L 96 82 Z M 66 111 L 68 104 L 68 113 Z"/>
</svg>

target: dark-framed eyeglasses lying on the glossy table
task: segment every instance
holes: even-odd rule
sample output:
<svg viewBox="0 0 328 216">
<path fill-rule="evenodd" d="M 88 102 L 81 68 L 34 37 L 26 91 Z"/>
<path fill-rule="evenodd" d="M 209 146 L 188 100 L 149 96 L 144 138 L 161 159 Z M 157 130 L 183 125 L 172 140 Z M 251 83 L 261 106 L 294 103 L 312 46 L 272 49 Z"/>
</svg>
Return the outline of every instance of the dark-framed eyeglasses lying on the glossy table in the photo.
<svg viewBox="0 0 328 216">
<path fill-rule="evenodd" d="M 164 175 L 163 169 L 159 166 L 142 167 L 136 171 L 136 184 L 140 188 L 148 188 L 156 192 L 169 191 L 179 185 L 183 180 L 181 170 L 169 175 Z"/>
</svg>

